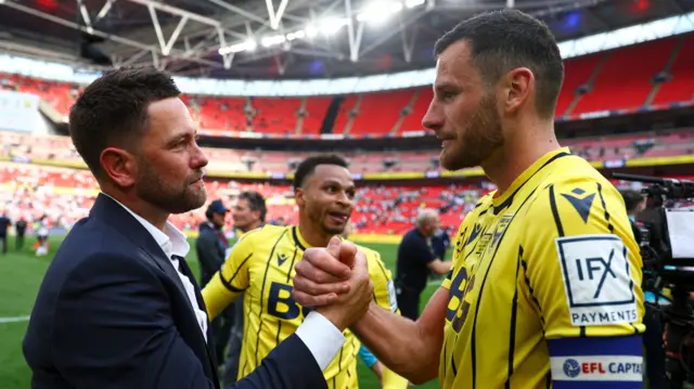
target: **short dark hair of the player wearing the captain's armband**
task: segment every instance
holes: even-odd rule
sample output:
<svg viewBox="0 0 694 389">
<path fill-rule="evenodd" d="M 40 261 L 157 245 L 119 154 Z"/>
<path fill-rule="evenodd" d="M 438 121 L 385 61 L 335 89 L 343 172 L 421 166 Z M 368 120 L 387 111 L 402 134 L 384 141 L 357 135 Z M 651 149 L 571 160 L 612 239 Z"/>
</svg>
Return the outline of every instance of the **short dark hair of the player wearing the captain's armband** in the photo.
<svg viewBox="0 0 694 389">
<path fill-rule="evenodd" d="M 514 68 L 529 68 L 537 80 L 538 114 L 554 117 L 564 63 L 547 24 L 517 10 L 483 13 L 444 35 L 436 42 L 435 54 L 462 39 L 470 42 L 473 62 L 488 83 L 496 83 Z"/>
</svg>

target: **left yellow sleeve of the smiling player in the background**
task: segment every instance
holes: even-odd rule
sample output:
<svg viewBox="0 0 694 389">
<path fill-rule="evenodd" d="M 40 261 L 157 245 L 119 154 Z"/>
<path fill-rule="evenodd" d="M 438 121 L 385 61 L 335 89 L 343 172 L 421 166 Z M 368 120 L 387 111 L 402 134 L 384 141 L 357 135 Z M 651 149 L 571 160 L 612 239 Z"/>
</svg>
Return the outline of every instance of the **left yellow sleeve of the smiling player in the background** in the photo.
<svg viewBox="0 0 694 389">
<path fill-rule="evenodd" d="M 203 289 L 209 320 L 215 319 L 248 287 L 248 261 L 253 257 L 253 239 L 240 238 L 229 257 Z"/>
</svg>

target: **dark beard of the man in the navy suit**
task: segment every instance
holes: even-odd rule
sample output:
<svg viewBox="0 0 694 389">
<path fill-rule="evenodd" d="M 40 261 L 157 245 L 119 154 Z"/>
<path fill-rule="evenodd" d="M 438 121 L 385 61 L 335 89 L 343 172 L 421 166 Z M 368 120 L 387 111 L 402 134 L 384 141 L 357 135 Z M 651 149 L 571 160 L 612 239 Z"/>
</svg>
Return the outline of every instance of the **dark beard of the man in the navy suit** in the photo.
<svg viewBox="0 0 694 389">
<path fill-rule="evenodd" d="M 162 180 L 160 176 L 153 171 L 146 161 L 139 164 L 140 173 L 136 192 L 138 197 L 156 206 L 168 213 L 183 213 L 197 209 L 205 204 L 207 191 L 193 187 L 194 178 L 187 180 L 183 186 L 172 185 Z"/>
</svg>

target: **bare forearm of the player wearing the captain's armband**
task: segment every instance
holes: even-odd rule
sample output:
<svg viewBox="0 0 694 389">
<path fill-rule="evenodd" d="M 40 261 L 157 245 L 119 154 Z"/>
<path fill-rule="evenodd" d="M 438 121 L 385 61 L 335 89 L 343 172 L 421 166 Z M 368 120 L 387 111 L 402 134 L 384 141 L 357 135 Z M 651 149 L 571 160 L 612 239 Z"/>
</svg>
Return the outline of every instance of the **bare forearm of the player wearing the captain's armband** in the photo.
<svg viewBox="0 0 694 389">
<path fill-rule="evenodd" d="M 393 372 L 414 384 L 438 372 L 442 325 L 424 330 L 419 322 L 399 316 L 375 303 L 350 329 Z"/>
</svg>

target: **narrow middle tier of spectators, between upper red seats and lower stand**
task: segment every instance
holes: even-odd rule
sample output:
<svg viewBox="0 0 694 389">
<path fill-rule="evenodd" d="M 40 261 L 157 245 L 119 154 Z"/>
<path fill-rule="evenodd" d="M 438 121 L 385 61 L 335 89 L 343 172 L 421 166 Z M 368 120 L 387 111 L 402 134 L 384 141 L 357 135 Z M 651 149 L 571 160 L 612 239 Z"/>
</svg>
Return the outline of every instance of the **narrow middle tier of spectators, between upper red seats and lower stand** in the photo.
<svg viewBox="0 0 694 389">
<path fill-rule="evenodd" d="M 0 131 L 0 156 L 16 161 L 60 161 L 82 164 L 68 137 Z M 562 145 L 588 160 L 627 160 L 632 158 L 690 155 L 694 153 L 694 129 L 658 130 L 646 133 L 561 140 Z M 312 154 L 204 148 L 213 172 L 288 173 L 300 158 Z M 437 151 L 340 153 L 350 161 L 352 173 L 440 171 Z"/>
</svg>

